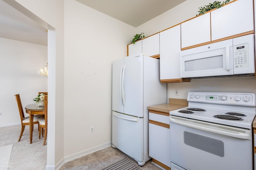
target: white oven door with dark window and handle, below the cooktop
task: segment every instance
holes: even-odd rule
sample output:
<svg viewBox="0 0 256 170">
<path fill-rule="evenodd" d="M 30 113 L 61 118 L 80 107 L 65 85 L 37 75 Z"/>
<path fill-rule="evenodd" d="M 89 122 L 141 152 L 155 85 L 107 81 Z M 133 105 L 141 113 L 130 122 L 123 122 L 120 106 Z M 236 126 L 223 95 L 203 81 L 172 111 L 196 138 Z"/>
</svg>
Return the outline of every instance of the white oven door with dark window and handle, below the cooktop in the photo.
<svg viewBox="0 0 256 170">
<path fill-rule="evenodd" d="M 170 115 L 172 165 L 181 170 L 252 170 L 251 136 L 248 129 Z"/>
</svg>

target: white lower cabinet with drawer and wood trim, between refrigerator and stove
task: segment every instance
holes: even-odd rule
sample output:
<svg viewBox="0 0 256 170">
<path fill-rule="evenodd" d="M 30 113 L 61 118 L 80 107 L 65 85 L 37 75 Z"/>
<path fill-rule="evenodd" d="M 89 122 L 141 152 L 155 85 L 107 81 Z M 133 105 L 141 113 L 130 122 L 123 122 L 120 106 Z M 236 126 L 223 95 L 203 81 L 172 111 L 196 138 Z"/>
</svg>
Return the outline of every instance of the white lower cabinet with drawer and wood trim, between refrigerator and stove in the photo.
<svg viewBox="0 0 256 170">
<path fill-rule="evenodd" d="M 149 156 L 166 170 L 171 167 L 169 114 L 149 112 Z"/>
</svg>

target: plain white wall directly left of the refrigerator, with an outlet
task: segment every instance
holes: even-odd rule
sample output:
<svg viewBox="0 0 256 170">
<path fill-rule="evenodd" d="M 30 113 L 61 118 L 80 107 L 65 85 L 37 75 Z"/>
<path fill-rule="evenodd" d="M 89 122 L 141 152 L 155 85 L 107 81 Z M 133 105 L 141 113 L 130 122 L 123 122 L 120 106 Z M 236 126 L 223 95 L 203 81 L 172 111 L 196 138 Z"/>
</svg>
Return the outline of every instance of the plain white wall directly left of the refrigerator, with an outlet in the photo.
<svg viewBox="0 0 256 170">
<path fill-rule="evenodd" d="M 74 0 L 65 1 L 64 11 L 64 154 L 70 160 L 111 145 L 112 61 L 126 57 L 135 28 Z"/>
</svg>

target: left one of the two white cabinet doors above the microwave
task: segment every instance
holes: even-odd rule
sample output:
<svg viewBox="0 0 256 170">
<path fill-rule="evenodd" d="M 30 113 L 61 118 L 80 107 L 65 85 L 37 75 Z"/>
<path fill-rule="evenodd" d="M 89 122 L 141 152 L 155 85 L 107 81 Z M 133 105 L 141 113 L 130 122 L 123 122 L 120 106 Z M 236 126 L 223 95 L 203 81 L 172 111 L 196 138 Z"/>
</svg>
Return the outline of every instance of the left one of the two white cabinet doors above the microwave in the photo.
<svg viewBox="0 0 256 170">
<path fill-rule="evenodd" d="M 211 41 L 210 13 L 181 23 L 181 48 Z"/>
</svg>

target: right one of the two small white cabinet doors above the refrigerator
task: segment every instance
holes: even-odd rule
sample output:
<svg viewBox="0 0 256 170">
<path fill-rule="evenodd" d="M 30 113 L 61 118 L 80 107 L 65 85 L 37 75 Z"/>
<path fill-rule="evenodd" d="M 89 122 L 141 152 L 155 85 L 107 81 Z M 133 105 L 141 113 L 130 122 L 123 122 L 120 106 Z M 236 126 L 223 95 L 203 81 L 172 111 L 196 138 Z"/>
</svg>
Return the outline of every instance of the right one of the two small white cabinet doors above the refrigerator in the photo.
<svg viewBox="0 0 256 170">
<path fill-rule="evenodd" d="M 142 39 L 142 53 L 149 57 L 159 55 L 159 33 Z"/>
</svg>

